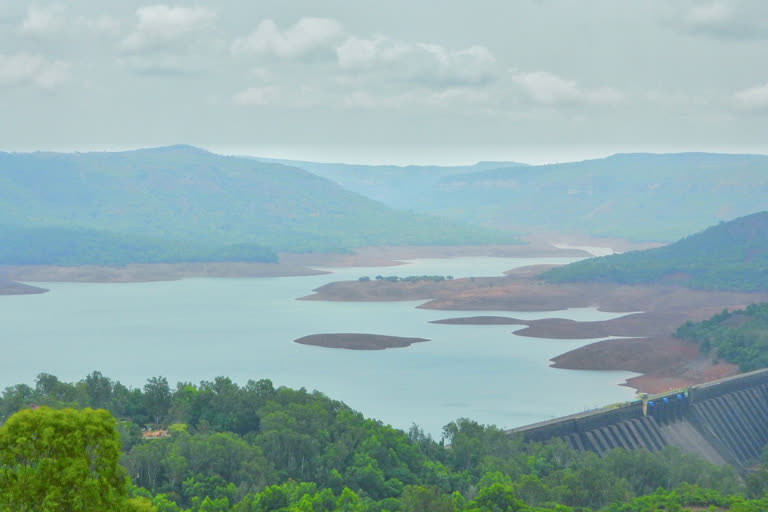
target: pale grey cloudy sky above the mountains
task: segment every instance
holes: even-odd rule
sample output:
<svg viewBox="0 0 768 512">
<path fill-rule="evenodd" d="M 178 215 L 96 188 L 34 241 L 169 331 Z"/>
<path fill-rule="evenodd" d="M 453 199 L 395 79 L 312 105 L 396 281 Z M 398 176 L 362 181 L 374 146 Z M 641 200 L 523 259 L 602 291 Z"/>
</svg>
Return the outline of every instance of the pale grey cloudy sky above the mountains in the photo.
<svg viewBox="0 0 768 512">
<path fill-rule="evenodd" d="M 0 149 L 768 153 L 764 0 L 0 0 Z"/>
</svg>

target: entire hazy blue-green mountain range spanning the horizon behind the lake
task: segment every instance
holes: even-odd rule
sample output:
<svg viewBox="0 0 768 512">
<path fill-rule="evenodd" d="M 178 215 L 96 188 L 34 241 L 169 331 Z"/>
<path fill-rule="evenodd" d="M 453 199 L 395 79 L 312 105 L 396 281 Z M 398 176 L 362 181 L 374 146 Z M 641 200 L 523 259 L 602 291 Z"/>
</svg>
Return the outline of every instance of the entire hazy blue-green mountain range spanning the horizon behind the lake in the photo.
<svg viewBox="0 0 768 512">
<path fill-rule="evenodd" d="M 279 251 L 510 243 L 536 231 L 665 241 L 762 210 L 762 155 L 398 167 L 183 145 L 0 152 L 0 264 L 274 261 Z"/>
</svg>

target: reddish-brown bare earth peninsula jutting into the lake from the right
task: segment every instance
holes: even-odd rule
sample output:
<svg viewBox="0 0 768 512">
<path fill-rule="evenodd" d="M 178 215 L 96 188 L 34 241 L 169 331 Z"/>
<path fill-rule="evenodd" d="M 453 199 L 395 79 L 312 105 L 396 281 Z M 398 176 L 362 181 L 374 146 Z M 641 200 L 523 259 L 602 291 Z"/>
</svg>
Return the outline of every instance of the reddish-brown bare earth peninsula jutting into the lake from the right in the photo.
<svg viewBox="0 0 768 512">
<path fill-rule="evenodd" d="M 534 338 L 600 341 L 556 357 L 558 368 L 625 370 L 642 373 L 626 385 L 657 393 L 733 375 L 737 367 L 715 362 L 698 346 L 671 334 L 686 320 L 699 321 L 723 308 L 768 300 L 766 293 L 703 291 L 681 286 L 628 286 L 609 283 L 550 284 L 535 279 L 542 269 L 522 268 L 506 277 L 455 279 L 443 282 L 392 283 L 343 281 L 315 290 L 305 300 L 388 301 L 428 300 L 420 308 L 454 311 L 557 311 L 596 307 L 632 313 L 612 320 L 578 322 L 549 318 L 465 317 L 445 319 L 454 324 L 524 325 L 516 334 Z"/>
</svg>

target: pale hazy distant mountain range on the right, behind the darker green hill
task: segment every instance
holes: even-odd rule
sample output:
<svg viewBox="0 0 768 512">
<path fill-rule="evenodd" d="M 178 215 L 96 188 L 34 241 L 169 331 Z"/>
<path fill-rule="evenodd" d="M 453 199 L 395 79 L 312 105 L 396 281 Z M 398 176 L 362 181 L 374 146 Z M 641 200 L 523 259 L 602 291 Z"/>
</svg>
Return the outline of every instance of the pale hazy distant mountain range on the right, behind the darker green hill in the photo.
<svg viewBox="0 0 768 512">
<path fill-rule="evenodd" d="M 768 209 L 768 156 L 618 154 L 526 166 L 292 162 L 385 204 L 517 232 L 674 241 Z"/>
</svg>

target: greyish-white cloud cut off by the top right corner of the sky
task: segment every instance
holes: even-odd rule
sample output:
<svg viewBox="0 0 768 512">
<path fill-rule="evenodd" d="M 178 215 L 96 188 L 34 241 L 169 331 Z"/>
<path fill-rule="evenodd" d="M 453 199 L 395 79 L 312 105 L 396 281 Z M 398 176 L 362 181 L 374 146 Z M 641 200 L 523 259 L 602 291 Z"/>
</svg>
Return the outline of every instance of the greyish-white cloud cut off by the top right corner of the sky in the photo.
<svg viewBox="0 0 768 512">
<path fill-rule="evenodd" d="M 697 4 L 677 15 L 684 30 L 723 39 L 768 37 L 768 4 L 764 0 L 716 0 Z"/>
</svg>

